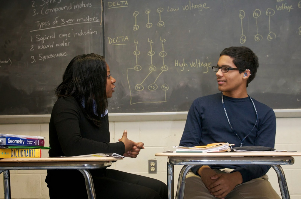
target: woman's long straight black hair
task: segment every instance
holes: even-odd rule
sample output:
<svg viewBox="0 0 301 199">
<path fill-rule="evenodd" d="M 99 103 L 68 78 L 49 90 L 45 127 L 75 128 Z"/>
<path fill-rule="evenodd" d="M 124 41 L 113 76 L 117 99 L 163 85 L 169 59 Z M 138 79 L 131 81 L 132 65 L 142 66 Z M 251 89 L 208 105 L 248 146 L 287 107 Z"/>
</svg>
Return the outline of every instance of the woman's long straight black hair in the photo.
<svg viewBox="0 0 301 199">
<path fill-rule="evenodd" d="M 72 96 L 80 107 L 85 100 L 85 108 L 82 108 L 86 117 L 99 126 L 100 116 L 108 105 L 106 85 L 107 63 L 104 57 L 94 53 L 77 55 L 68 64 L 55 95 L 57 99 Z"/>
</svg>

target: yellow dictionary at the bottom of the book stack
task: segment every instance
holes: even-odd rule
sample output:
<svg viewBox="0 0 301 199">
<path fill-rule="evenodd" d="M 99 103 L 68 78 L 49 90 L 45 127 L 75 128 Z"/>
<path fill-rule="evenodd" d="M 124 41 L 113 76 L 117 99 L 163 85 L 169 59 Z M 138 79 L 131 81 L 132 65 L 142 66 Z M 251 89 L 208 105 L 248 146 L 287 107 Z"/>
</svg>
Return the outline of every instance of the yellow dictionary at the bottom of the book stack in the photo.
<svg viewBox="0 0 301 199">
<path fill-rule="evenodd" d="M 41 149 L 0 149 L 0 158 L 40 158 Z"/>
</svg>

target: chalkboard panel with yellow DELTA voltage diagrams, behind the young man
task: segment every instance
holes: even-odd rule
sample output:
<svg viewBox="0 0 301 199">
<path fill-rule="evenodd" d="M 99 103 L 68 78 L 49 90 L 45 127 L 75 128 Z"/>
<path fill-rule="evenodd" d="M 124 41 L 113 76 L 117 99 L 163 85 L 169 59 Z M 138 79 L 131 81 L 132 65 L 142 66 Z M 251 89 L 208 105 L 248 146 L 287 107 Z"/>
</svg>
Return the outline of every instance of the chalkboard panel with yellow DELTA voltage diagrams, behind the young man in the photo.
<svg viewBox="0 0 301 199">
<path fill-rule="evenodd" d="M 248 46 L 259 70 L 248 94 L 301 108 L 301 1 L 104 1 L 106 60 L 116 78 L 110 112 L 188 111 L 219 92 L 220 52 Z"/>
</svg>

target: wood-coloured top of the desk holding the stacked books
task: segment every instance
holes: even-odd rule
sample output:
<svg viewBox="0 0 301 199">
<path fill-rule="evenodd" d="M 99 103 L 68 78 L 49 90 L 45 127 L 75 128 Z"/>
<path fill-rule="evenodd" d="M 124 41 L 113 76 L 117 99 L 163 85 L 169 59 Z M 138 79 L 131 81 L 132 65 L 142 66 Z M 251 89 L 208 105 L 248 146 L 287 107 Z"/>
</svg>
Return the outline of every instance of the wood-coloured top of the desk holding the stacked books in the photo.
<svg viewBox="0 0 301 199">
<path fill-rule="evenodd" d="M 1 162 L 86 162 L 86 161 L 116 161 L 122 157 L 55 157 L 55 158 L 2 158 Z"/>
</svg>

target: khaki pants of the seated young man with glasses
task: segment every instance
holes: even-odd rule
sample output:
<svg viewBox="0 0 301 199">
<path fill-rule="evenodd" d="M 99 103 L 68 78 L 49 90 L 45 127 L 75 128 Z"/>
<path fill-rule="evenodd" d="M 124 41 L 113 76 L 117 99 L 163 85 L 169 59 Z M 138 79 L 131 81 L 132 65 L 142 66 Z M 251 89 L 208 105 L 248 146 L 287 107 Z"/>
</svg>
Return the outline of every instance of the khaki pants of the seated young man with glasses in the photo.
<svg viewBox="0 0 301 199">
<path fill-rule="evenodd" d="M 280 199 L 264 175 L 237 185 L 225 199 Z M 188 172 L 186 176 L 184 199 L 216 199 L 210 194 L 199 175 Z"/>
</svg>

